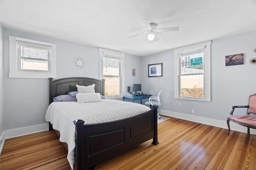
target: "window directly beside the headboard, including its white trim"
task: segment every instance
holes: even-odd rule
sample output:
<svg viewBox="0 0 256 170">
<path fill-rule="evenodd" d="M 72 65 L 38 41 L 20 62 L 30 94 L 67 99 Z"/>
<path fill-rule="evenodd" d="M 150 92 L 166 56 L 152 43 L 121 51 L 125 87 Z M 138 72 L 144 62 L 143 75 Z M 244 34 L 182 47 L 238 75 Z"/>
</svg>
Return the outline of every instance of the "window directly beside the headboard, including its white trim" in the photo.
<svg viewBox="0 0 256 170">
<path fill-rule="evenodd" d="M 105 79 L 105 96 L 122 97 L 124 92 L 124 53 L 99 48 L 100 79 Z"/>
</svg>

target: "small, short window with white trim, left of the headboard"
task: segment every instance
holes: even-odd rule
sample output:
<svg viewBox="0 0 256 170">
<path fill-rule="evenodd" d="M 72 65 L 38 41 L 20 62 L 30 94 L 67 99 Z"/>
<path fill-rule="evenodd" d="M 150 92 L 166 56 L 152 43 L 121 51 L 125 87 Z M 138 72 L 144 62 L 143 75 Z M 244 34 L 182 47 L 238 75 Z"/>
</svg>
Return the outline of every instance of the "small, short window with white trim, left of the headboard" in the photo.
<svg viewBox="0 0 256 170">
<path fill-rule="evenodd" d="M 10 78 L 56 78 L 56 45 L 9 36 Z"/>
</svg>

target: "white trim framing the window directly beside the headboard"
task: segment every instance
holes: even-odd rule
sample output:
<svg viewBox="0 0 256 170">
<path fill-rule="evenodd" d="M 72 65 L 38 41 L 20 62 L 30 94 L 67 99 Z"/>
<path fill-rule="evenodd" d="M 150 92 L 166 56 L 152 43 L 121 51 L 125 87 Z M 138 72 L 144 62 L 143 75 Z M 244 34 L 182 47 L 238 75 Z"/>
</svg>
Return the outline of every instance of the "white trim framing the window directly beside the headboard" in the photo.
<svg viewBox="0 0 256 170">
<path fill-rule="evenodd" d="M 119 57 L 122 60 L 122 69 L 121 69 L 121 92 L 120 96 L 110 96 L 106 98 L 120 98 L 125 93 L 125 86 L 124 86 L 124 53 L 118 52 L 118 51 L 112 51 L 108 49 L 102 49 L 99 48 L 99 64 L 100 64 L 100 75 L 99 79 L 103 79 L 103 53 L 108 53 L 109 55 L 114 55 L 116 57 Z"/>
</svg>

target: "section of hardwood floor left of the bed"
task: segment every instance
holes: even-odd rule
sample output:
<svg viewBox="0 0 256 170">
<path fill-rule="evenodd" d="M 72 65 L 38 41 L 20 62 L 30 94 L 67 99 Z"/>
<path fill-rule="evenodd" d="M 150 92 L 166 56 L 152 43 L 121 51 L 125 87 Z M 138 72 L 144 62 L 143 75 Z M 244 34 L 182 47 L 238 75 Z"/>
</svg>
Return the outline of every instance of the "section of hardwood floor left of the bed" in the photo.
<svg viewBox="0 0 256 170">
<path fill-rule="evenodd" d="M 0 155 L 0 170 L 70 169 L 67 150 L 55 131 L 6 139 Z"/>
</svg>

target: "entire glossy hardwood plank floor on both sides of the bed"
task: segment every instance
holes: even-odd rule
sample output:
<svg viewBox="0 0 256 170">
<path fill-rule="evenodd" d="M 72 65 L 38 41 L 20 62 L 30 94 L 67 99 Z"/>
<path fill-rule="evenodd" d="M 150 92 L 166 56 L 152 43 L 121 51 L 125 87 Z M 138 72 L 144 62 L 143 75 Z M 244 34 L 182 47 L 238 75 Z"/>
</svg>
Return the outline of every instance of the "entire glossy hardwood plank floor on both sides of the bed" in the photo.
<svg viewBox="0 0 256 170">
<path fill-rule="evenodd" d="M 256 135 L 226 133 L 227 129 L 170 118 L 158 124 L 159 145 L 147 141 L 95 169 L 256 170 Z M 68 170 L 66 155 L 54 131 L 7 139 L 0 169 Z"/>
</svg>

